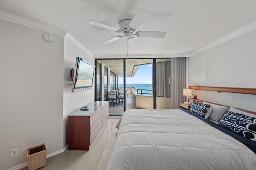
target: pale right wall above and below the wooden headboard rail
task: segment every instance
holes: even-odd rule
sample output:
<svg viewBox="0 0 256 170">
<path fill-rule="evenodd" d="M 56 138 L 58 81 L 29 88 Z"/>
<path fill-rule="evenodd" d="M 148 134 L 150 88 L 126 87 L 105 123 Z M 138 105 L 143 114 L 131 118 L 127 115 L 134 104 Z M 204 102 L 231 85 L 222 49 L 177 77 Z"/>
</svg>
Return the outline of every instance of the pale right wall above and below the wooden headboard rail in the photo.
<svg viewBox="0 0 256 170">
<path fill-rule="evenodd" d="M 256 30 L 188 59 L 189 86 L 256 88 Z M 198 99 L 256 112 L 256 95 L 193 90 Z"/>
</svg>

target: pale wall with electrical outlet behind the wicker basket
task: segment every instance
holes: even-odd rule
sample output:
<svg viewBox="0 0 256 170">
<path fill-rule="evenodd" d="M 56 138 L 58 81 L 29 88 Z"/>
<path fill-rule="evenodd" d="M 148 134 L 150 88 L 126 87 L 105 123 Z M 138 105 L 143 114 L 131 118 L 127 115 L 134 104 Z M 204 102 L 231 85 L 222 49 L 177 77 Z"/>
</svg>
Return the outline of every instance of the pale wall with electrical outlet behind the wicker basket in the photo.
<svg viewBox="0 0 256 170">
<path fill-rule="evenodd" d="M 64 38 L 0 20 L 0 169 L 26 162 L 26 149 L 63 149 Z M 18 156 L 10 158 L 10 150 Z"/>
</svg>

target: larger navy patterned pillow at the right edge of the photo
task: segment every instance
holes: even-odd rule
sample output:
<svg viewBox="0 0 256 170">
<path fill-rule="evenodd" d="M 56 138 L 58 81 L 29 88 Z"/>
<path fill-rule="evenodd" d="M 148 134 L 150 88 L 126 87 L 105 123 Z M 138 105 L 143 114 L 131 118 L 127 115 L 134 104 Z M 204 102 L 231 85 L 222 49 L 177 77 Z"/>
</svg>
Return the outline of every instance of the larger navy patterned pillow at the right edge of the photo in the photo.
<svg viewBox="0 0 256 170">
<path fill-rule="evenodd" d="M 245 138 L 256 141 L 255 117 L 230 111 L 220 119 L 220 125 L 244 136 Z"/>
</svg>

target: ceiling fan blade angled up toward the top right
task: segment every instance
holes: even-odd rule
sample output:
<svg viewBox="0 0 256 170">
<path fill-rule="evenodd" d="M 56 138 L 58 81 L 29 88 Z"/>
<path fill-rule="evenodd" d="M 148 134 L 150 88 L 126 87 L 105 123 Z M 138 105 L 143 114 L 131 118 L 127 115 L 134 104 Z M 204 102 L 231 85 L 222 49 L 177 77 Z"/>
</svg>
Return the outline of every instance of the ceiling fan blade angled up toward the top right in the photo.
<svg viewBox="0 0 256 170">
<path fill-rule="evenodd" d="M 142 9 L 138 9 L 135 16 L 132 18 L 132 21 L 130 22 L 129 27 L 131 29 L 137 29 L 140 26 L 140 24 L 142 24 L 142 22 L 146 20 L 149 16 L 150 16 L 149 12 L 146 12 L 145 10 L 142 10 Z"/>
</svg>

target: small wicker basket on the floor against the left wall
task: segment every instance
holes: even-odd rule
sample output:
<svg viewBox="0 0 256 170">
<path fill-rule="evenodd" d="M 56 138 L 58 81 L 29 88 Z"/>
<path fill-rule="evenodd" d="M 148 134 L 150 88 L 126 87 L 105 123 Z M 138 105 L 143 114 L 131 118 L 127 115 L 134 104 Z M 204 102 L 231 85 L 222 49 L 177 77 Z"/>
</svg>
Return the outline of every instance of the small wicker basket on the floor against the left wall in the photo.
<svg viewBox="0 0 256 170">
<path fill-rule="evenodd" d="M 43 143 L 27 149 L 28 170 L 36 170 L 46 165 L 47 147 Z"/>
</svg>

